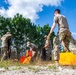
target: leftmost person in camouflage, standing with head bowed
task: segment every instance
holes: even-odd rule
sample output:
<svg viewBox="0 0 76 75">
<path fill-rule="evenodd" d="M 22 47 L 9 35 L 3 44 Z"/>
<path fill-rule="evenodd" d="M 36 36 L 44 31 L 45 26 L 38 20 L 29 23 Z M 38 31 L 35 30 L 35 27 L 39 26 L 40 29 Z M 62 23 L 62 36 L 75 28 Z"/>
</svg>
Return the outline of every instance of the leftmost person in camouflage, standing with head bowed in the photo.
<svg viewBox="0 0 76 75">
<path fill-rule="evenodd" d="M 12 37 L 12 35 L 7 32 L 5 35 L 2 36 L 1 40 L 2 40 L 2 48 L 1 48 L 1 61 L 5 60 L 8 58 L 8 53 L 9 53 L 9 50 L 8 50 L 8 39 L 10 39 Z"/>
</svg>

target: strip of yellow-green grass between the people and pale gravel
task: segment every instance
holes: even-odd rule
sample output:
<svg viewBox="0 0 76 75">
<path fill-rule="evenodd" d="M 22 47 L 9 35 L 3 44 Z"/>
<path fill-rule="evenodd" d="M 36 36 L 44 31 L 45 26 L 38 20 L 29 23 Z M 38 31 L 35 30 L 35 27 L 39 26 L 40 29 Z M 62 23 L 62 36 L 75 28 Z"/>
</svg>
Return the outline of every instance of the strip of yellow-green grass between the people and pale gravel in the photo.
<svg viewBox="0 0 76 75">
<path fill-rule="evenodd" d="M 54 64 L 53 61 L 39 61 L 39 62 L 31 62 L 29 64 L 22 64 L 17 59 L 8 59 L 4 60 L 3 62 L 0 62 L 0 68 L 4 67 L 7 68 L 9 66 L 28 66 L 28 65 L 42 65 L 47 66 L 48 64 Z"/>
</svg>

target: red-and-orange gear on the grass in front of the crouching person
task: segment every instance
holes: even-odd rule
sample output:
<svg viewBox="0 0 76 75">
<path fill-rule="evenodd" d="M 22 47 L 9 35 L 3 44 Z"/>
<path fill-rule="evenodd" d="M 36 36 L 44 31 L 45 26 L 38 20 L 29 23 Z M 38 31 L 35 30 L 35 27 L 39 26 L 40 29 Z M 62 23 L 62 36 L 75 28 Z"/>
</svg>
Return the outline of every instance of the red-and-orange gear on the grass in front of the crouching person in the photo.
<svg viewBox="0 0 76 75">
<path fill-rule="evenodd" d="M 32 51 L 28 50 L 25 56 L 20 58 L 20 62 L 23 64 L 28 64 L 32 58 Z"/>
</svg>

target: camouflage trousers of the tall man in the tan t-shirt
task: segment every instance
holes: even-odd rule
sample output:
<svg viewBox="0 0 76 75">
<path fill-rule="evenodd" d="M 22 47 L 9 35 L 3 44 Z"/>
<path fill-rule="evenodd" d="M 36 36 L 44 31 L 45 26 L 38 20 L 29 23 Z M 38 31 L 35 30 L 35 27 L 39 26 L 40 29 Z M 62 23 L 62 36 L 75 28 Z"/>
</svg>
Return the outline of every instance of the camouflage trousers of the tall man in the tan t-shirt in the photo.
<svg viewBox="0 0 76 75">
<path fill-rule="evenodd" d="M 66 50 L 66 48 L 67 48 L 70 51 L 69 44 L 70 44 L 71 41 L 74 42 L 74 39 L 73 39 L 70 31 L 66 30 L 62 33 L 60 32 L 59 33 L 59 39 L 60 39 L 60 41 L 64 42 L 64 45 L 65 45 L 64 50 Z"/>
</svg>

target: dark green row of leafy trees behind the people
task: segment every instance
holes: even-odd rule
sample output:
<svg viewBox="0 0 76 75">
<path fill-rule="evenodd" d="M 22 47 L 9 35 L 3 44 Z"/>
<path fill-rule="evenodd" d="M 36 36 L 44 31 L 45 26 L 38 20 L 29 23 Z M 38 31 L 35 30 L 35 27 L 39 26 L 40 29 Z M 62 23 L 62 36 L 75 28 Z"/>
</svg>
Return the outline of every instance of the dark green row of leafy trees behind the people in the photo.
<svg viewBox="0 0 76 75">
<path fill-rule="evenodd" d="M 0 16 L 0 37 L 6 32 L 12 34 L 13 47 L 17 49 L 19 54 L 22 50 L 26 50 L 26 42 L 35 43 L 41 48 L 44 45 L 44 35 L 50 31 L 48 24 L 40 27 L 33 24 L 30 19 L 24 18 L 20 14 L 16 14 L 14 18 L 5 18 Z M 55 36 L 54 32 L 51 36 L 51 41 Z"/>
</svg>

